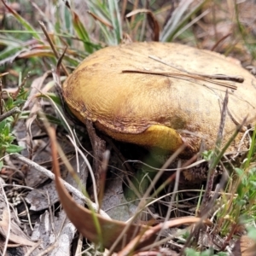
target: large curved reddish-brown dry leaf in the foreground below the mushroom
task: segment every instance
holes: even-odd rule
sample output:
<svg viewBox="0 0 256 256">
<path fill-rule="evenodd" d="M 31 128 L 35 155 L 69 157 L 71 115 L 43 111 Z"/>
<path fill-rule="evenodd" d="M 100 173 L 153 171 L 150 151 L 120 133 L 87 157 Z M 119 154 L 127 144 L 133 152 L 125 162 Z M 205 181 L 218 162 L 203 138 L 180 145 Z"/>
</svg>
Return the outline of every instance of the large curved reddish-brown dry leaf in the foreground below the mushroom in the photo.
<svg viewBox="0 0 256 256">
<path fill-rule="evenodd" d="M 71 195 L 67 193 L 67 190 L 63 186 L 60 180 L 60 168 L 57 160 L 57 145 L 55 141 L 55 131 L 49 128 L 49 137 L 51 140 L 51 148 L 53 154 L 53 169 L 55 172 L 55 185 L 58 191 L 58 195 L 61 201 L 61 205 L 67 213 L 67 217 L 74 224 L 74 226 L 81 232 L 81 234 L 93 241 L 96 244 L 102 243 L 102 247 L 111 247 L 113 242 L 125 229 L 126 224 L 120 221 L 109 220 L 102 218 L 101 215 L 96 212 L 92 212 L 77 204 Z M 99 230 L 100 229 L 100 230 Z M 119 241 L 115 247 L 115 251 L 119 251 L 127 244 L 131 239 L 143 230 L 151 229 L 143 225 L 131 224 L 129 229 L 125 233 L 125 239 Z M 99 233 L 100 231 L 100 233 Z M 154 237 L 147 237 L 143 243 L 139 243 L 137 247 L 144 247 L 150 244 L 154 240 Z"/>
</svg>

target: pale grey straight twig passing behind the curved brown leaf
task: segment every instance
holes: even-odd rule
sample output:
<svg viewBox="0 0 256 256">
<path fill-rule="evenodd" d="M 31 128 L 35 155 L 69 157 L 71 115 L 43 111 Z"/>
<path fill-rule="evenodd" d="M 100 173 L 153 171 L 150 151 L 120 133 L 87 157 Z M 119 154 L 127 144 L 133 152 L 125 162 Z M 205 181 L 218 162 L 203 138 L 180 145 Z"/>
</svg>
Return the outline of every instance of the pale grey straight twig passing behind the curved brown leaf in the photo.
<svg viewBox="0 0 256 256">
<path fill-rule="evenodd" d="M 45 176 L 49 177 L 52 180 L 55 180 L 55 175 L 50 172 L 49 170 L 45 169 L 42 166 L 39 166 L 37 163 L 33 162 L 32 160 L 27 159 L 26 157 L 22 156 L 21 154 L 11 154 L 11 156 L 15 157 L 16 159 L 20 160 L 23 163 L 26 163 L 28 166 L 31 166 L 32 168 L 35 168 L 38 172 L 42 172 Z M 90 201 L 89 198 L 85 197 L 78 189 L 75 189 L 73 186 L 71 186 L 69 183 L 65 182 L 63 179 L 61 179 L 61 182 L 64 184 L 66 189 L 72 193 L 73 195 L 76 195 L 79 199 L 85 201 L 86 204 L 90 204 L 90 206 L 97 211 L 98 207 L 96 204 L 92 201 Z M 111 219 L 108 214 L 102 210 L 99 211 L 99 213 L 108 219 Z"/>
</svg>

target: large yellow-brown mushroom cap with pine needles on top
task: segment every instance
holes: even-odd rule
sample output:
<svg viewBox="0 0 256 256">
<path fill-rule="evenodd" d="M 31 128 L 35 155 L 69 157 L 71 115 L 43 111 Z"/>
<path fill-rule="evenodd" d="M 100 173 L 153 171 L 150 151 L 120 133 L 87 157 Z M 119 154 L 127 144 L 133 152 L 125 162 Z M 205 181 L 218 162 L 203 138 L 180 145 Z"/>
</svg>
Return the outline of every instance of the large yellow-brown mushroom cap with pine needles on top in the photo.
<svg viewBox="0 0 256 256">
<path fill-rule="evenodd" d="M 182 44 L 100 49 L 82 61 L 62 90 L 68 108 L 82 122 L 90 119 L 116 140 L 169 153 L 186 142 L 183 157 L 197 153 L 201 143 L 214 148 L 226 90 L 223 144 L 244 118 L 245 128 L 256 121 L 253 75 L 224 55 Z M 237 150 L 242 135 L 229 151 Z"/>
</svg>

